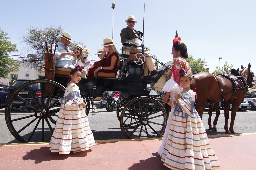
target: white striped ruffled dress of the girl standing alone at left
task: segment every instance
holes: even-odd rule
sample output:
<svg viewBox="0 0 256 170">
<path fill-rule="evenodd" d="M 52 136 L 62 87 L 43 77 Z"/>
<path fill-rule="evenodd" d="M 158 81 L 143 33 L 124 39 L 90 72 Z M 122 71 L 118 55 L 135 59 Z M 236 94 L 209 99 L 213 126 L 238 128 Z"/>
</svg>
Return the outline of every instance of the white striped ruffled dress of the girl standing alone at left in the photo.
<svg viewBox="0 0 256 170">
<path fill-rule="evenodd" d="M 68 154 L 89 150 L 95 145 L 94 137 L 84 112 L 83 98 L 74 83 L 69 83 L 62 99 L 59 99 L 60 112 L 51 137 L 51 152 Z"/>
</svg>

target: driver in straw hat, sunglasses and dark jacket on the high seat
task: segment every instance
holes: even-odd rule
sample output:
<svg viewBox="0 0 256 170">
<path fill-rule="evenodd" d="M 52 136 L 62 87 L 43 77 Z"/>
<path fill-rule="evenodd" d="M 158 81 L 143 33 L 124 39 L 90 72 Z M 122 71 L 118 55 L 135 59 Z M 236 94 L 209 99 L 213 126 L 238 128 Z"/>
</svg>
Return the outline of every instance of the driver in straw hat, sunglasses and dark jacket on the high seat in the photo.
<svg viewBox="0 0 256 170">
<path fill-rule="evenodd" d="M 127 23 L 127 27 L 122 29 L 120 33 L 121 37 L 121 42 L 124 43 L 125 41 L 128 41 L 133 48 L 136 48 L 136 50 L 142 51 L 142 47 L 137 47 L 141 46 L 141 34 L 133 29 L 135 23 L 135 18 L 133 15 L 130 15 L 127 20 L 124 22 Z M 148 75 L 148 70 L 151 72 L 151 75 L 155 75 L 159 73 L 159 70 L 156 70 L 156 66 L 152 60 L 152 55 L 150 51 L 144 48 L 144 55 L 145 55 L 145 64 L 144 64 L 144 76 Z"/>
</svg>

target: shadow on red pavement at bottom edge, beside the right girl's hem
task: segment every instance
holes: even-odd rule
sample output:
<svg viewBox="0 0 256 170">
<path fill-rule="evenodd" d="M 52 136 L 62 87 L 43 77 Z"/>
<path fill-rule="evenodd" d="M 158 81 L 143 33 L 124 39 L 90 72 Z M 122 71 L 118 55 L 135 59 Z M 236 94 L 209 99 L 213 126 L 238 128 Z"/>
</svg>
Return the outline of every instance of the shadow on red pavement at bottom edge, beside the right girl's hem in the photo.
<svg viewBox="0 0 256 170">
<path fill-rule="evenodd" d="M 164 166 L 163 161 L 161 161 L 160 155 L 157 154 L 158 152 L 152 153 L 152 157 L 140 160 L 140 162 L 133 164 L 129 167 L 129 170 L 138 170 L 138 169 L 169 169 Z"/>
</svg>

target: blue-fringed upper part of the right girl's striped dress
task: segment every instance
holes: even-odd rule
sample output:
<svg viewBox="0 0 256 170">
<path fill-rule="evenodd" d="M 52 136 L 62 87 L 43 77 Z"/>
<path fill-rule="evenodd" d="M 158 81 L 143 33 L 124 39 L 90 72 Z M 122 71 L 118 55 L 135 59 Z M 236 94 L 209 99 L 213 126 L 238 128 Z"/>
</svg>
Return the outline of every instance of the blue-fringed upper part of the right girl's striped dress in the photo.
<svg viewBox="0 0 256 170">
<path fill-rule="evenodd" d="M 183 112 L 191 114 L 191 106 L 193 105 L 195 94 L 192 90 L 189 90 L 185 94 L 181 94 L 182 97 L 178 99 L 180 105 L 182 106 Z"/>
</svg>

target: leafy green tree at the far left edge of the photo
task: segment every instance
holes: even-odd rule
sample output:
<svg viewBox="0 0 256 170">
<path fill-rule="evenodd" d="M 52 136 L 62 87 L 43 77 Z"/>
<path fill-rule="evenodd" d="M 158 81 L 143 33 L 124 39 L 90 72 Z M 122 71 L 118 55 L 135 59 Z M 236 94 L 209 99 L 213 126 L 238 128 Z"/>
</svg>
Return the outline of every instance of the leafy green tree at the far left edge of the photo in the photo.
<svg viewBox="0 0 256 170">
<path fill-rule="evenodd" d="M 16 52 L 16 44 L 12 44 L 7 33 L 0 29 L 0 78 L 8 79 L 9 72 L 18 71 L 18 64 L 8 57 L 9 53 Z"/>
</svg>

